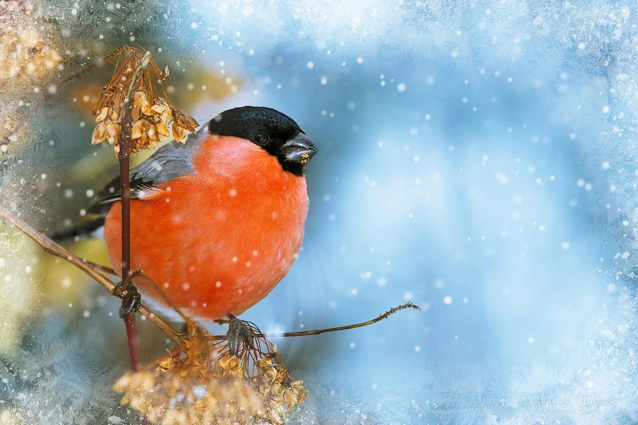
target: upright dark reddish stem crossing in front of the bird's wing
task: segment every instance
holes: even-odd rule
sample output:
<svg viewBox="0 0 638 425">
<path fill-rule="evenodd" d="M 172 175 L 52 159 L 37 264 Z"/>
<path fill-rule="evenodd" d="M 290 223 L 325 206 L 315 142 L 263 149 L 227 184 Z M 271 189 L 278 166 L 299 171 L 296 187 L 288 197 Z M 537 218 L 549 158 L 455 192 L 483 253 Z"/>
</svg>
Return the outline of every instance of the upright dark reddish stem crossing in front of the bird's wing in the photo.
<svg viewBox="0 0 638 425">
<path fill-rule="evenodd" d="M 122 287 L 126 295 L 122 299 L 122 309 L 130 309 L 133 302 L 132 280 L 127 279 L 131 273 L 131 191 L 130 191 L 130 162 L 131 154 L 131 127 L 133 126 L 133 93 L 137 89 L 138 82 L 151 59 L 151 52 L 146 52 L 137 66 L 128 93 L 122 102 L 122 134 L 120 136 L 119 153 L 117 155 L 120 165 L 120 193 L 122 194 Z M 137 332 L 135 332 L 135 311 L 124 317 L 128 348 L 131 354 L 131 369 L 140 369 L 140 354 L 137 347 Z"/>
</svg>

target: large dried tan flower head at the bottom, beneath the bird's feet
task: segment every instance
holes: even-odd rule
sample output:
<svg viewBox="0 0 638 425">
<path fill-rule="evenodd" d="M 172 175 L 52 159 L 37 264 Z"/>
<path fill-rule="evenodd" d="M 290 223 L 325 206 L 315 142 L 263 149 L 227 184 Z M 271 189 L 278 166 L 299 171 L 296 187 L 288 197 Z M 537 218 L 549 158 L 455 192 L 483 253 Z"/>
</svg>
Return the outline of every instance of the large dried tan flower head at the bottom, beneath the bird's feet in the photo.
<svg viewBox="0 0 638 425">
<path fill-rule="evenodd" d="M 220 352 L 228 341 L 211 343 L 210 334 L 193 322 L 188 323 L 188 334 L 181 349 L 115 382 L 122 404 L 154 424 L 283 424 L 286 410 L 292 411 L 308 395 L 302 381 L 290 378 L 276 347 L 261 332 L 256 348 L 250 355 L 243 350 L 241 359 L 228 350 Z M 263 344 L 273 352 L 253 363 L 255 355 L 262 355 Z"/>
</svg>

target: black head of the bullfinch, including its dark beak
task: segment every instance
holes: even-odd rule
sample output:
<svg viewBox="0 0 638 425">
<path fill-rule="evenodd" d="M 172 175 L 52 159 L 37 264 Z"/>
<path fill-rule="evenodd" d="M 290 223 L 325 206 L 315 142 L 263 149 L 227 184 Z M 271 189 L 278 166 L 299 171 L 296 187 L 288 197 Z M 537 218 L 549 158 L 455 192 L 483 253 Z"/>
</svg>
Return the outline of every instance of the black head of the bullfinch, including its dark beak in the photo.
<svg viewBox="0 0 638 425">
<path fill-rule="evenodd" d="M 221 112 L 208 124 L 211 134 L 246 138 L 275 156 L 281 168 L 304 174 L 316 146 L 292 118 L 266 107 L 239 107 Z"/>
</svg>

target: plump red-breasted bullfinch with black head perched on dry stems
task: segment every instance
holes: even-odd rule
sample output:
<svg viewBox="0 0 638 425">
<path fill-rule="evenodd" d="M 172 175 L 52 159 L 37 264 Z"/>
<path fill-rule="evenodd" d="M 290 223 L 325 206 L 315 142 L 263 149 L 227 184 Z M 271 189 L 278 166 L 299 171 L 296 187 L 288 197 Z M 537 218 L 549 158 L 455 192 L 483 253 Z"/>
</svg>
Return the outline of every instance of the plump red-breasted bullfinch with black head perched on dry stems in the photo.
<svg viewBox="0 0 638 425">
<path fill-rule="evenodd" d="M 292 118 L 253 106 L 221 112 L 186 144 L 159 147 L 130 172 L 130 269 L 189 317 L 237 318 L 271 292 L 299 254 L 309 207 L 305 167 L 316 151 Z M 96 218 L 54 239 L 103 226 L 121 276 L 119 177 L 87 211 Z M 135 286 L 145 302 L 170 311 L 151 283 Z"/>
</svg>

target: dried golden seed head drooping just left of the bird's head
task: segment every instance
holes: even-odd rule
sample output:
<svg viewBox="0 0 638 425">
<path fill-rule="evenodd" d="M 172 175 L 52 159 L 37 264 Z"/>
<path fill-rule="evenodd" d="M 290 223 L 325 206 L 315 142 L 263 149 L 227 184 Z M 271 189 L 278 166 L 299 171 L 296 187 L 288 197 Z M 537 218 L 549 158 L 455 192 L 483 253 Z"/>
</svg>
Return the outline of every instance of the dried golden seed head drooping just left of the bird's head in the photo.
<svg viewBox="0 0 638 425">
<path fill-rule="evenodd" d="M 91 144 L 98 144 L 107 140 L 114 146 L 115 154 L 119 153 L 119 136 L 108 137 L 108 130 L 121 131 L 122 106 L 126 93 L 130 89 L 133 73 L 144 52 L 135 47 L 121 47 L 108 57 L 108 61 L 115 61 L 115 71 L 110 82 L 102 89 L 100 100 L 96 103 L 93 114 L 97 115 L 98 124 L 93 131 Z M 172 136 L 176 142 L 185 143 L 190 133 L 195 133 L 199 125 L 193 117 L 180 110 L 174 109 L 167 100 L 161 81 L 168 78 L 168 67 L 159 70 L 154 61 L 149 62 L 149 68 L 158 80 L 165 97 L 153 94 L 151 71 L 144 71 L 138 86 L 133 87 L 133 126 L 131 128 L 131 153 L 138 153 L 142 149 L 154 148 L 160 141 L 170 140 Z M 102 125 L 103 124 L 103 125 Z"/>
</svg>

